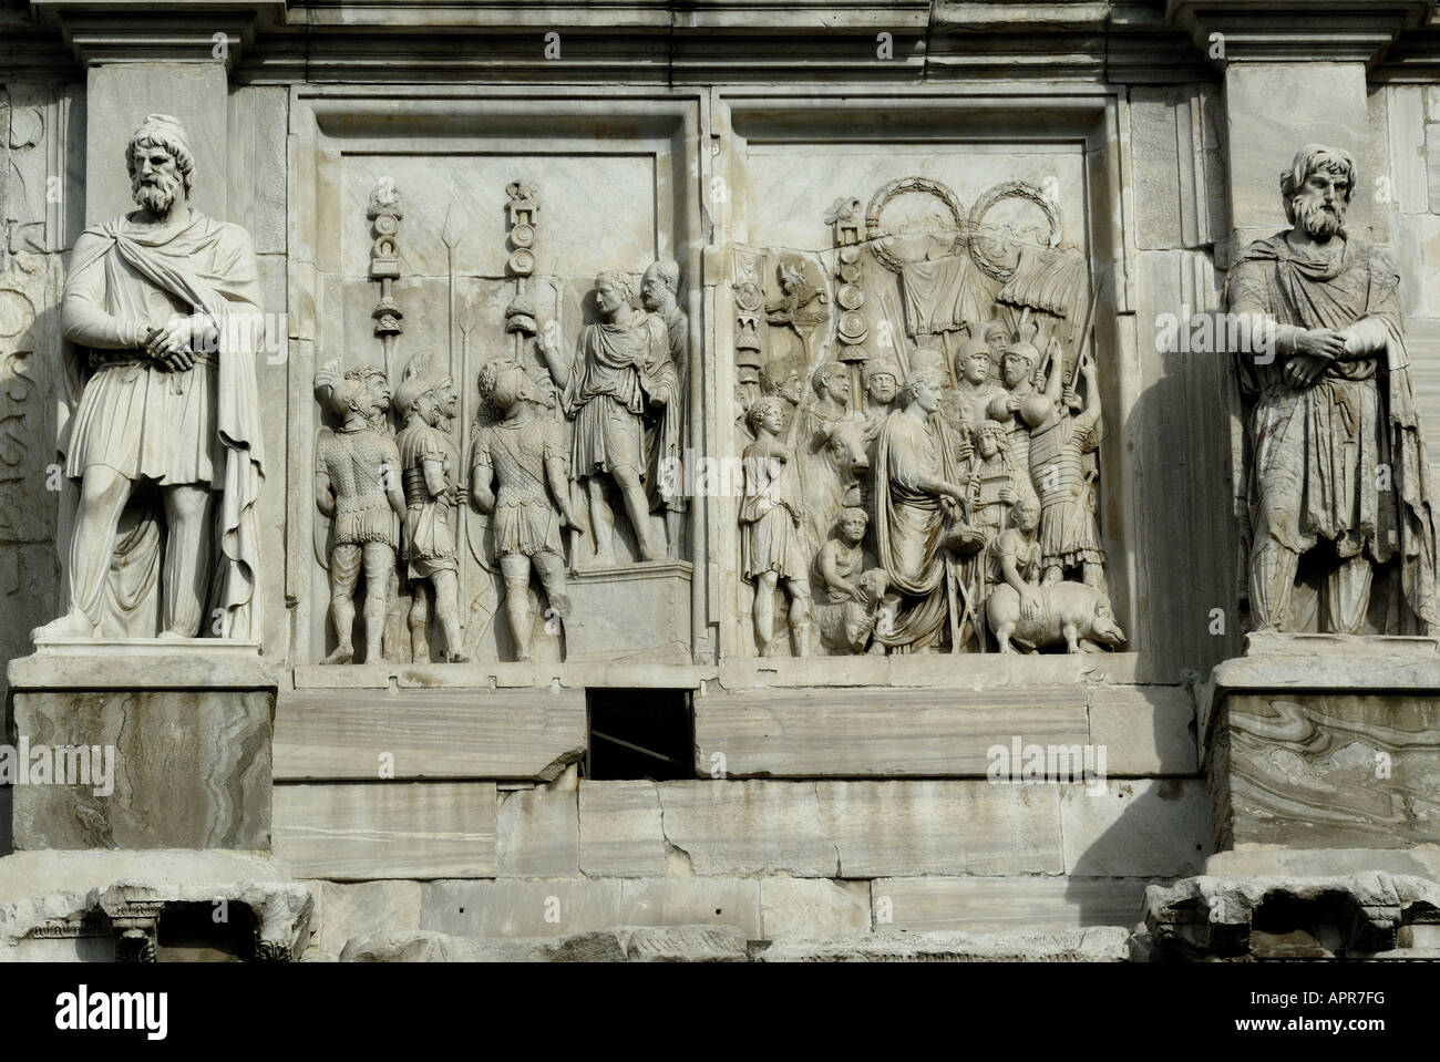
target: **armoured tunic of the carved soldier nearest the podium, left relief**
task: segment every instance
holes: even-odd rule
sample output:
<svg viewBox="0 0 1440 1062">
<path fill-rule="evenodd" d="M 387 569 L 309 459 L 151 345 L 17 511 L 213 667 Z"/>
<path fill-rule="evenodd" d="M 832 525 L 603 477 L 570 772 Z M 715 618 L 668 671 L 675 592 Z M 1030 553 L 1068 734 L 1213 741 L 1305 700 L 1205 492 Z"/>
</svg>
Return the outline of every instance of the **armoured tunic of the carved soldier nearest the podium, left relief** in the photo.
<svg viewBox="0 0 1440 1062">
<path fill-rule="evenodd" d="M 547 460 L 564 460 L 569 446 L 559 420 L 536 417 L 524 425 L 501 420 L 480 432 L 471 452 L 471 479 L 500 481 L 492 531 L 495 557 L 563 554 L 560 512 L 546 485 Z"/>
</svg>

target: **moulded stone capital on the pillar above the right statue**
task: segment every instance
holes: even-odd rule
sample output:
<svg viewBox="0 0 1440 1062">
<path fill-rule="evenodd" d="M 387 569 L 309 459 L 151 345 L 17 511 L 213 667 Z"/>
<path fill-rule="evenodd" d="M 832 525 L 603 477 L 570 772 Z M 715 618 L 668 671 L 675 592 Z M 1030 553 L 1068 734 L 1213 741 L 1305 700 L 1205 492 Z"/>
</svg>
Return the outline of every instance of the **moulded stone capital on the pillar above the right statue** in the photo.
<svg viewBox="0 0 1440 1062">
<path fill-rule="evenodd" d="M 1168 0 L 1205 56 L 1233 62 L 1377 62 L 1436 0 Z M 1218 36 L 1217 36 L 1218 35 Z"/>
</svg>

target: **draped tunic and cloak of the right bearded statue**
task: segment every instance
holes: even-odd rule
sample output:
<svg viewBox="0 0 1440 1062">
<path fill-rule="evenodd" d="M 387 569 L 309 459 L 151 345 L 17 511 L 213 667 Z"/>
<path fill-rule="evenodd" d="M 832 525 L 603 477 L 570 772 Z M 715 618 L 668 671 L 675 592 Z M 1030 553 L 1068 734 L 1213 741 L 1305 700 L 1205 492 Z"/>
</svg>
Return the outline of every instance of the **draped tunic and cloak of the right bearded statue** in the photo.
<svg viewBox="0 0 1440 1062">
<path fill-rule="evenodd" d="M 1375 248 L 1351 240 L 1333 259 L 1318 259 L 1290 248 L 1284 233 L 1253 243 L 1230 271 L 1231 312 L 1332 330 L 1374 318 L 1388 335 L 1380 354 L 1332 361 L 1309 387 L 1286 380 L 1286 355 L 1259 364 L 1254 354 L 1238 354 L 1241 390 L 1254 401 L 1251 519 L 1257 541 L 1269 535 L 1295 553 L 1328 538 L 1341 557 L 1365 551 L 1384 563 L 1398 548 L 1410 606 L 1436 622 L 1428 469 L 1398 285 L 1394 265 Z M 1394 491 L 1378 489 L 1380 465 L 1395 469 Z"/>
</svg>

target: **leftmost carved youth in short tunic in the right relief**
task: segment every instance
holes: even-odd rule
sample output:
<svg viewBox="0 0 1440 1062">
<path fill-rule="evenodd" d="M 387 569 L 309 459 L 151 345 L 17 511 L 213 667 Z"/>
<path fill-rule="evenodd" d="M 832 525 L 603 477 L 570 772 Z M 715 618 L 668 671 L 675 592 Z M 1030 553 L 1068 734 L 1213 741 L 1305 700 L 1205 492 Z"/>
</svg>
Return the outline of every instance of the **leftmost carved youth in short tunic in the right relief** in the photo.
<svg viewBox="0 0 1440 1062">
<path fill-rule="evenodd" d="M 755 640 L 769 655 L 775 639 L 775 590 L 791 599 L 791 640 L 796 656 L 809 652 L 811 591 L 801 547 L 802 509 L 791 455 L 779 440 L 785 423 L 780 400 L 750 406 L 755 442 L 744 448 L 744 498 L 740 502 L 740 573 L 755 583 Z"/>
</svg>

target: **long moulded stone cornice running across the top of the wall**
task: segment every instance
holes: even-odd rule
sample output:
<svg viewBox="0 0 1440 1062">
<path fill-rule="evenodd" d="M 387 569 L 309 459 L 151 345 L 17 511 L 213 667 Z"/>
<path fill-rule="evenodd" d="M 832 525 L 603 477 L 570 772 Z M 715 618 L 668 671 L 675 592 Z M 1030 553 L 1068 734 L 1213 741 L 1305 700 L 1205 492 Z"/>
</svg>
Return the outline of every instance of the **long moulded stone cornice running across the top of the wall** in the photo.
<svg viewBox="0 0 1440 1062">
<path fill-rule="evenodd" d="M 73 60 L 223 56 L 239 82 L 253 83 L 1164 83 L 1208 81 L 1236 60 L 1374 66 L 1394 50 L 1408 71 L 1428 73 L 1434 3 L 12 0 L 4 13 L 14 32 L 0 59 L 13 52 L 12 69 L 53 76 L 73 73 Z M 559 35 L 557 58 L 546 55 L 549 33 Z M 1212 33 L 1224 35 L 1221 58 Z M 73 55 L 63 68 L 62 43 Z"/>
</svg>

